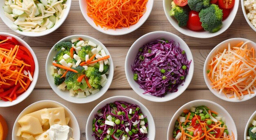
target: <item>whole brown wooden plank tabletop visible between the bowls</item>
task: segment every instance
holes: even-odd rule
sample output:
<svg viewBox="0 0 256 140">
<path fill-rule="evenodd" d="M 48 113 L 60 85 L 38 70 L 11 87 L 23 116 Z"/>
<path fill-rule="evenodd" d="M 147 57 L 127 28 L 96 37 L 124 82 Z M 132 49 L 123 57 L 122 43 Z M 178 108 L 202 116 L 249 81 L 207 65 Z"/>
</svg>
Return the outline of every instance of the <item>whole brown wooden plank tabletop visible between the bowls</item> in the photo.
<svg viewBox="0 0 256 140">
<path fill-rule="evenodd" d="M 150 102 L 138 96 L 128 84 L 124 72 L 124 61 L 129 47 L 137 38 L 151 31 L 169 31 L 180 36 L 189 45 L 194 58 L 195 71 L 191 84 L 181 96 L 168 102 Z M 155 0 L 153 10 L 148 20 L 139 29 L 123 36 L 106 35 L 92 28 L 83 18 L 78 0 L 72 0 L 69 16 L 62 26 L 47 36 L 34 38 L 21 36 L 9 29 L 2 20 L 0 20 L 0 32 L 12 33 L 19 36 L 32 47 L 39 62 L 40 73 L 36 88 L 27 99 L 13 107 L 0 108 L 0 114 L 7 120 L 9 126 L 7 140 L 11 140 L 13 123 L 19 113 L 29 104 L 39 100 L 55 100 L 66 105 L 74 113 L 79 122 L 81 140 L 86 139 L 85 124 L 92 109 L 102 100 L 112 96 L 129 96 L 135 98 L 150 110 L 155 120 L 155 140 L 166 140 L 168 124 L 173 114 L 183 104 L 192 100 L 211 100 L 229 111 L 236 123 L 238 140 L 243 140 L 245 124 L 256 110 L 256 98 L 238 103 L 227 102 L 217 98 L 207 88 L 202 74 L 205 58 L 211 49 L 220 42 L 229 38 L 247 38 L 256 42 L 256 33 L 247 24 L 240 5 L 236 18 L 229 29 L 219 36 L 208 39 L 192 38 L 174 29 L 164 14 L 162 0 Z M 74 34 L 91 36 L 101 41 L 110 51 L 115 66 L 115 75 L 110 89 L 98 100 L 87 104 L 74 104 L 63 100 L 54 93 L 45 76 L 45 61 L 51 47 L 58 40 Z"/>
</svg>

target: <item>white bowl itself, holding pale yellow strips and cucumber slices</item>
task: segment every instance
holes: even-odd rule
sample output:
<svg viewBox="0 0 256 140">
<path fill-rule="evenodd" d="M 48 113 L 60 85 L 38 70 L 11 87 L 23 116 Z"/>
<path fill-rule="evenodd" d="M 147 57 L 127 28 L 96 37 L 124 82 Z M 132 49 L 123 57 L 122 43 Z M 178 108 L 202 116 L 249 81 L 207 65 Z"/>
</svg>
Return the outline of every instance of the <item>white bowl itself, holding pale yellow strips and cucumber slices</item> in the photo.
<svg viewBox="0 0 256 140">
<path fill-rule="evenodd" d="M 67 4 L 67 8 L 66 8 L 66 11 L 63 15 L 63 17 L 58 20 L 57 24 L 55 24 L 51 29 L 46 29 L 45 31 L 42 31 L 42 32 L 33 32 L 33 31 L 27 31 L 27 32 L 22 32 L 22 31 L 19 31 L 19 30 L 13 30 L 11 28 L 11 26 L 13 25 L 13 22 L 7 18 L 7 16 L 4 15 L 4 10 L 3 10 L 3 6 L 4 6 L 4 1 L 0 3 L 0 18 L 2 19 L 2 21 L 10 28 L 12 29 L 13 31 L 15 31 L 16 33 L 19 33 L 23 36 L 31 36 L 31 37 L 37 37 L 37 36 L 45 36 L 49 33 L 52 33 L 53 31 L 55 31 L 56 29 L 58 29 L 58 27 L 61 26 L 61 24 L 66 20 L 67 18 L 67 15 L 70 11 L 70 7 L 71 7 L 71 1 L 72 0 L 67 0 L 66 4 Z"/>
</svg>

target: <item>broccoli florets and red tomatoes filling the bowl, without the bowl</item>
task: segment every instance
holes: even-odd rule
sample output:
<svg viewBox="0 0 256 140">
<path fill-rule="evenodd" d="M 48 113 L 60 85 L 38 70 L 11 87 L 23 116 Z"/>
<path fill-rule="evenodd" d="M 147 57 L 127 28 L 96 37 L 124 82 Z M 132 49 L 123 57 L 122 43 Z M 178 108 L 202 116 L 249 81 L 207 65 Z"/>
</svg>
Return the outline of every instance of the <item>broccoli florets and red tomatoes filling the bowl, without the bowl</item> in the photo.
<svg viewBox="0 0 256 140">
<path fill-rule="evenodd" d="M 234 3 L 235 0 L 173 0 L 170 16 L 180 27 L 215 33 L 222 27 L 222 20 L 229 16 Z"/>
</svg>

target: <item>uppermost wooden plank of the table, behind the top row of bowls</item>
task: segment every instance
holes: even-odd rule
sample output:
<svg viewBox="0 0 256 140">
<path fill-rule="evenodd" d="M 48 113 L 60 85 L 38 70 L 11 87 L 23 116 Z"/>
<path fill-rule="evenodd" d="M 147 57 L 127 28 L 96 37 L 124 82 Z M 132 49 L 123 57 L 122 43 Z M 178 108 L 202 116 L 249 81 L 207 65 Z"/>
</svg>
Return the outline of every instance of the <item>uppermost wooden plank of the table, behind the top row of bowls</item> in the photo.
<svg viewBox="0 0 256 140">
<path fill-rule="evenodd" d="M 0 21 L 0 31 L 18 35 L 9 29 L 2 21 Z M 173 28 L 164 14 L 162 0 L 155 0 L 153 10 L 148 20 L 139 29 L 127 35 L 110 36 L 92 28 L 90 24 L 88 24 L 88 22 L 86 22 L 86 20 L 83 18 L 79 8 L 79 1 L 72 0 L 72 7 L 67 20 L 65 20 L 62 26 L 56 31 L 44 37 L 30 38 L 21 35 L 18 36 L 33 47 L 52 46 L 54 42 L 74 34 L 92 36 L 93 38 L 99 39 L 106 46 L 110 47 L 129 47 L 135 40 L 137 40 L 137 38 L 151 31 L 169 31 L 171 33 L 175 33 L 177 36 L 180 36 L 189 45 L 189 47 L 214 47 L 216 44 L 226 39 L 238 37 L 247 38 L 256 42 L 256 33 L 247 24 L 240 5 L 236 18 L 227 31 L 213 38 L 200 39 L 186 36 Z"/>
</svg>

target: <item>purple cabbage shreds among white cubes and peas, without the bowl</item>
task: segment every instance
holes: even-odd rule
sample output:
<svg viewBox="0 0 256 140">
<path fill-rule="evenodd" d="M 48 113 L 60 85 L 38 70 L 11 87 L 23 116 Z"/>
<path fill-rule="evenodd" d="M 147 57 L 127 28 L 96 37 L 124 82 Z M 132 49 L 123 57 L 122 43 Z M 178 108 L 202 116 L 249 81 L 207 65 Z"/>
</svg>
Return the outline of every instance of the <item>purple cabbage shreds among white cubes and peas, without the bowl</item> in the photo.
<svg viewBox="0 0 256 140">
<path fill-rule="evenodd" d="M 122 105 L 125 105 L 125 107 L 123 107 Z M 137 124 L 137 127 L 133 125 L 133 122 L 144 120 L 145 121 L 144 126 L 148 129 L 148 123 L 147 123 L 146 116 L 144 116 L 143 119 L 139 119 L 139 114 L 141 115 L 142 112 L 140 109 L 137 111 L 136 110 L 137 108 L 139 108 L 138 105 L 129 104 L 124 101 L 116 101 L 114 103 L 106 104 L 105 107 L 100 109 L 98 111 L 98 113 L 94 115 L 94 117 L 95 117 L 94 119 L 96 119 L 96 122 L 92 124 L 92 125 L 95 125 L 95 132 L 92 134 L 92 136 L 95 136 L 96 140 L 103 140 L 108 135 L 108 133 L 107 133 L 108 129 L 114 129 L 113 134 L 110 136 L 110 138 L 108 140 L 122 140 L 123 135 L 126 135 L 126 134 L 128 137 L 130 137 L 129 140 L 148 140 L 147 133 L 141 133 L 141 131 L 140 131 L 140 128 L 141 128 L 140 123 Z M 135 111 L 135 113 L 129 114 L 130 109 L 132 109 L 132 111 Z M 117 112 L 119 112 L 119 111 L 123 111 L 125 113 L 125 115 L 117 115 Z M 124 123 L 123 124 L 121 124 L 121 123 L 115 124 L 115 127 L 107 125 L 107 124 L 105 124 L 105 121 L 106 121 L 108 115 L 115 117 L 116 119 L 119 119 L 121 121 L 123 120 Z M 128 117 L 129 115 L 131 116 L 130 119 Z M 103 125 L 98 123 L 99 120 L 102 121 Z M 127 124 L 129 124 L 129 125 L 127 125 Z M 125 126 L 125 125 L 127 125 L 127 126 Z M 126 127 L 128 127 L 128 129 L 130 131 L 132 129 L 136 129 L 136 128 L 138 131 L 137 131 L 137 133 L 133 133 L 130 136 L 126 132 Z M 99 129 L 101 129 L 102 133 L 99 133 Z M 117 133 L 118 129 L 121 131 L 124 131 L 120 135 L 119 138 L 117 138 L 115 136 L 115 133 Z"/>
</svg>

